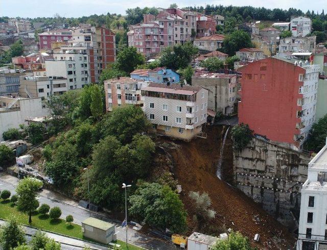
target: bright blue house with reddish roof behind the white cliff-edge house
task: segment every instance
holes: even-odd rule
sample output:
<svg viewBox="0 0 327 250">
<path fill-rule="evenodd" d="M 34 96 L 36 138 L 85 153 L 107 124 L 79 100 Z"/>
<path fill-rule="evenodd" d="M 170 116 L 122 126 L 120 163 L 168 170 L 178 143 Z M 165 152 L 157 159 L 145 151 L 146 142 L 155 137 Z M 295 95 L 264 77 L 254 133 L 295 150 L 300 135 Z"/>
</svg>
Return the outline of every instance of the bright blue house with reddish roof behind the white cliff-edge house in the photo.
<svg viewBox="0 0 327 250">
<path fill-rule="evenodd" d="M 132 79 L 153 83 L 178 83 L 179 73 L 167 68 L 136 69 L 130 73 Z"/>
</svg>

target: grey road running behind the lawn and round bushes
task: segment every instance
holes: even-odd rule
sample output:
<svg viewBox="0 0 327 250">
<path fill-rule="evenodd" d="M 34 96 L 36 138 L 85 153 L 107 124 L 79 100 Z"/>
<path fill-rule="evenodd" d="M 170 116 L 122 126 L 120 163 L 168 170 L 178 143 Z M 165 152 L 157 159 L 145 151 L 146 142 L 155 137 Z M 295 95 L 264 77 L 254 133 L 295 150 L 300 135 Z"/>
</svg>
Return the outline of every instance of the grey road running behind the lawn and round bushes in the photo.
<svg viewBox="0 0 327 250">
<path fill-rule="evenodd" d="M 6 173 L 0 174 L 0 190 L 7 189 L 11 192 L 11 194 L 15 194 L 15 188 L 18 183 L 18 179 L 10 176 Z M 69 199 L 64 197 L 56 192 L 43 189 L 39 192 L 38 201 L 40 204 L 48 204 L 50 207 L 59 207 L 61 209 L 61 217 L 65 218 L 68 214 L 73 215 L 74 223 L 81 224 L 81 222 L 88 217 L 95 217 L 99 218 L 111 223 L 114 223 L 109 218 L 101 215 L 100 213 L 94 213 L 89 210 L 86 210 L 82 207 L 79 207 L 78 204 Z M 126 240 L 126 228 L 122 228 L 120 224 L 114 223 L 116 225 L 116 233 L 117 238 L 120 240 Z M 140 233 L 136 230 L 131 228 L 128 229 L 128 242 L 144 247 L 146 249 L 177 249 L 177 247 L 172 244 L 171 242 L 164 241 L 161 239 L 153 238 L 143 233 Z"/>
</svg>

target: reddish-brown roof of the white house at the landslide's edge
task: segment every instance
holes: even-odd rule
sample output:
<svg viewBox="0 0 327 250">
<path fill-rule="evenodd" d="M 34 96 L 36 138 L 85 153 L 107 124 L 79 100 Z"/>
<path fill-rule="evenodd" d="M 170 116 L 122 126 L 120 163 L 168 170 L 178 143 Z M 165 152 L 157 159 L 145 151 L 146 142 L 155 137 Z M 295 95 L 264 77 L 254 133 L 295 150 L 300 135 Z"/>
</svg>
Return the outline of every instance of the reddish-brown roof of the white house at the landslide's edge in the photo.
<svg viewBox="0 0 327 250">
<path fill-rule="evenodd" d="M 152 92 L 162 92 L 171 94 L 184 94 L 184 95 L 194 95 L 202 87 L 200 86 L 190 86 L 190 85 L 179 85 L 179 84 L 161 84 L 161 83 L 150 83 L 148 87 L 142 88 L 144 91 Z"/>
</svg>

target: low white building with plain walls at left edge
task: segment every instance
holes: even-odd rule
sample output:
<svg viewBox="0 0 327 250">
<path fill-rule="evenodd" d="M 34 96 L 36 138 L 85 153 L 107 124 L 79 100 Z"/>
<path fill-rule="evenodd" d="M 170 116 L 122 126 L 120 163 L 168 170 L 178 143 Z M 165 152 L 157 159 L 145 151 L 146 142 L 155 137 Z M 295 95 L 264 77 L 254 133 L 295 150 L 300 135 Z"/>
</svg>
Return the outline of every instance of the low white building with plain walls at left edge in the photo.
<svg viewBox="0 0 327 250">
<path fill-rule="evenodd" d="M 48 115 L 41 98 L 22 98 L 14 96 L 0 96 L 0 141 L 3 133 L 11 128 L 19 128 L 26 124 L 25 119 Z"/>
</svg>

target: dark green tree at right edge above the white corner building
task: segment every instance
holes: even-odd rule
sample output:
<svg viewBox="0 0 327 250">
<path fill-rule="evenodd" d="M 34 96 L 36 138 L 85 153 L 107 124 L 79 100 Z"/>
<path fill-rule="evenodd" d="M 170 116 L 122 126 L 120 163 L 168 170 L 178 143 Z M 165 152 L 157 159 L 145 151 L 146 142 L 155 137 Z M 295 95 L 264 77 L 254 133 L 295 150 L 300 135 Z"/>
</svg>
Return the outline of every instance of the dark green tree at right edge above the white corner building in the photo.
<svg viewBox="0 0 327 250">
<path fill-rule="evenodd" d="M 318 153 L 325 145 L 327 137 L 327 114 L 315 122 L 309 134 L 307 147 L 310 151 Z"/>
</svg>

